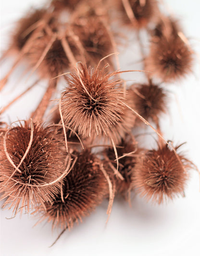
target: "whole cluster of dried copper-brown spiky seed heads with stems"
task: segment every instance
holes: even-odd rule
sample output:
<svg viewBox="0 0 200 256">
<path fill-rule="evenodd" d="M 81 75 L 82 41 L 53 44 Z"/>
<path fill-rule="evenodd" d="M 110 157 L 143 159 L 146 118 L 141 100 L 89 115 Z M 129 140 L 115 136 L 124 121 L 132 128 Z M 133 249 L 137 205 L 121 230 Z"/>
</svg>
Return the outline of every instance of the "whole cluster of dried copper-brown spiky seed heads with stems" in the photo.
<svg viewBox="0 0 200 256">
<path fill-rule="evenodd" d="M 140 29 L 147 32 L 148 55 L 141 45 L 144 69 L 150 71 L 145 83 L 126 88 L 121 73 L 127 71 L 116 71 L 114 12 L 139 43 Z M 48 86 L 29 119 L 10 127 L 1 118 L 4 206 L 67 229 L 105 198 L 110 215 L 115 194 L 130 201 L 133 191 L 158 204 L 184 194 L 193 164 L 164 140 L 160 116 L 167 112 L 165 82 L 185 77 L 193 51 L 156 0 L 51 0 L 19 20 L 2 58 L 8 55 L 13 66 L 0 90 L 21 60 Z M 60 100 L 46 116 L 60 80 L 65 85 Z M 142 148 L 134 137 L 144 124 L 158 135 L 158 149 Z"/>
</svg>

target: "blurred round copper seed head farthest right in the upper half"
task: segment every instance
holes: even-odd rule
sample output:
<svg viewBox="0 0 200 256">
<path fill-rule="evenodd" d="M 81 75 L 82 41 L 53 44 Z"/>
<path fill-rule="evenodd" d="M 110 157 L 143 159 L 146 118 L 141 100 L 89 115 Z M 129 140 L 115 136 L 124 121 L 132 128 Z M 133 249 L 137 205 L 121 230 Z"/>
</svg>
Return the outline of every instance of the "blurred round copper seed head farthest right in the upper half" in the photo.
<svg viewBox="0 0 200 256">
<path fill-rule="evenodd" d="M 192 52 L 179 37 L 171 40 L 162 38 L 151 43 L 146 69 L 162 81 L 171 82 L 185 77 L 192 68 Z"/>
</svg>

